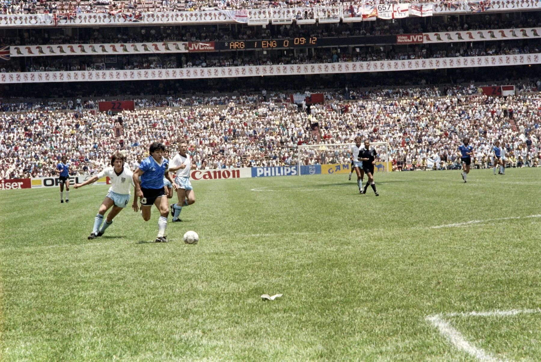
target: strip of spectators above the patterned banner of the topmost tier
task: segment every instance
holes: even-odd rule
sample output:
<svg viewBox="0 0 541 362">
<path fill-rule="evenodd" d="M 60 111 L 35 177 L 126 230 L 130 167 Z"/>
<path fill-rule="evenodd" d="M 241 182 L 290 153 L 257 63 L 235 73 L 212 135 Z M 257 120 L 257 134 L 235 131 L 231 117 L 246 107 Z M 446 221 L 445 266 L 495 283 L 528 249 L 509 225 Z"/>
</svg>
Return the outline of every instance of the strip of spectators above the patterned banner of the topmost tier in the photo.
<svg viewBox="0 0 541 362">
<path fill-rule="evenodd" d="M 450 6 L 459 3 L 456 0 L 401 0 L 400 3 L 433 3 Z M 2 0 L 2 14 L 52 14 L 54 12 L 74 12 L 80 14 L 107 12 L 162 12 L 162 11 L 204 11 L 204 10 L 240 10 L 240 9 L 284 9 L 309 8 L 312 6 L 338 7 L 345 9 L 362 4 L 398 3 L 398 0 Z"/>
</svg>

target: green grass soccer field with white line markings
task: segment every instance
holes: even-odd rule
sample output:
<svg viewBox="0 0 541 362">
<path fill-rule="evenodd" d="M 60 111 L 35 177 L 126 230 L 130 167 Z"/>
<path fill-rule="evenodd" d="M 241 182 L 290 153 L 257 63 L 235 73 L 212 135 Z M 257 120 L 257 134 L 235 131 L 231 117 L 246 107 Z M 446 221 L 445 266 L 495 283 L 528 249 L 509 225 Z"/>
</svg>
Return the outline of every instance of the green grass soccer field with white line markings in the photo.
<svg viewBox="0 0 541 362">
<path fill-rule="evenodd" d="M 541 171 L 506 173 L 195 181 L 167 244 L 155 208 L 87 240 L 108 186 L 3 191 L 0 360 L 540 360 Z"/>
</svg>

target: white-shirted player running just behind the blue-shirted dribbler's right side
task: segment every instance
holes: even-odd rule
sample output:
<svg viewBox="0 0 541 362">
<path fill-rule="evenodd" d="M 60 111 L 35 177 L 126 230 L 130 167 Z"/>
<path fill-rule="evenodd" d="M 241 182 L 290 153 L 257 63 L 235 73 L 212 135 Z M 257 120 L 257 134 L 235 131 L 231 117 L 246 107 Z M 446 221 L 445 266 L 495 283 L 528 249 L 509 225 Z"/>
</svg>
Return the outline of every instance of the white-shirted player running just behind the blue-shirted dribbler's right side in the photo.
<svg viewBox="0 0 541 362">
<path fill-rule="evenodd" d="M 179 215 L 183 206 L 195 203 L 195 193 L 189 179 L 190 170 L 192 169 L 192 158 L 186 152 L 187 150 L 188 142 L 182 140 L 179 143 L 179 153 L 173 157 L 173 160 L 169 164 L 169 171 L 175 172 L 175 184 L 179 185 L 179 188 L 176 190 L 179 202 L 169 205 L 174 223 L 182 221 L 179 219 Z"/>
</svg>

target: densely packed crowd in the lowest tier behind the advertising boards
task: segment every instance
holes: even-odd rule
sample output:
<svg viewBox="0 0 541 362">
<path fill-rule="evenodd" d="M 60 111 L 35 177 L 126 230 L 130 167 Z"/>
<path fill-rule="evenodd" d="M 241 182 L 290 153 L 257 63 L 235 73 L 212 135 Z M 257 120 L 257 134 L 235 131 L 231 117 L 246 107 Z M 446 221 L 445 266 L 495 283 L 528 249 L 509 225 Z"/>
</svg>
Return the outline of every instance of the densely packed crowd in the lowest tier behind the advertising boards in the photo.
<svg viewBox="0 0 541 362">
<path fill-rule="evenodd" d="M 108 164 L 114 150 L 126 149 L 131 162 L 144 156 L 154 140 L 174 151 L 184 138 L 189 139 L 189 152 L 198 169 L 295 165 L 298 145 L 351 143 L 357 135 L 388 142 L 390 160 L 397 168 L 400 163 L 422 167 L 428 158 L 443 160 L 445 167 L 456 164 L 457 146 L 466 136 L 475 148 L 475 165 L 482 166 L 483 159 L 485 165 L 489 162 L 496 139 L 509 149 L 507 154 L 511 160 L 516 158 L 517 166 L 539 164 L 539 92 L 506 98 L 374 94 L 348 101 L 329 94 L 325 104 L 312 106 L 310 112 L 275 102 L 280 97 L 271 93 L 266 102 L 230 102 L 221 107 L 142 108 L 122 112 L 121 123 L 117 115 L 88 111 L 4 113 L 0 116 L 0 177 L 54 175 L 64 153 L 71 159 L 72 172 L 95 173 Z M 319 134 L 313 131 L 316 123 Z M 119 125 L 121 136 L 116 132 Z M 302 162 L 347 162 L 347 158 L 347 154 L 327 155 L 323 160 L 315 150 Z"/>
</svg>

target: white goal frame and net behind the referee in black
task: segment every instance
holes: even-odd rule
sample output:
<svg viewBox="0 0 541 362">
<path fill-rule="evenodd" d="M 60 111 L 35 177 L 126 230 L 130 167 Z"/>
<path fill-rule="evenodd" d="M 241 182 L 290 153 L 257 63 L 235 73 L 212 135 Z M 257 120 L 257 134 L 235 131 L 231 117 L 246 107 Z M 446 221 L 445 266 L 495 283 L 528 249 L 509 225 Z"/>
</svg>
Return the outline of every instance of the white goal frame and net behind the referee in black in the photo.
<svg viewBox="0 0 541 362">
<path fill-rule="evenodd" d="M 301 170 L 302 167 L 309 165 L 339 165 L 339 170 L 349 172 L 353 145 L 354 143 L 338 143 L 298 146 L 297 175 L 306 175 L 306 172 L 301 172 Z M 392 171 L 392 165 L 389 161 L 389 143 L 371 142 L 370 146 L 378 153 L 375 158 L 374 172 Z M 364 147 L 364 145 L 361 145 L 361 147 Z"/>
</svg>

